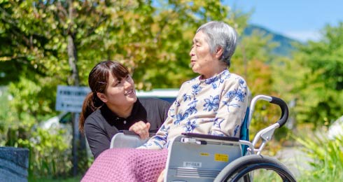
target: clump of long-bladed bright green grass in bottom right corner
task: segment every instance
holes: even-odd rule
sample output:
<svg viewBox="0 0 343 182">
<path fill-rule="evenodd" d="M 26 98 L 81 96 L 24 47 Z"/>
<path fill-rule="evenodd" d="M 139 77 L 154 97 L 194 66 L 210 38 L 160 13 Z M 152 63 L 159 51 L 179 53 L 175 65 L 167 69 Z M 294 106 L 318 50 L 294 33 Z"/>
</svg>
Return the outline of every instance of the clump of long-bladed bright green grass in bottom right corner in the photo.
<svg viewBox="0 0 343 182">
<path fill-rule="evenodd" d="M 302 172 L 299 181 L 342 181 L 343 180 L 343 136 L 326 139 L 325 136 L 295 137 L 304 146 L 311 159 L 309 171 Z"/>
</svg>

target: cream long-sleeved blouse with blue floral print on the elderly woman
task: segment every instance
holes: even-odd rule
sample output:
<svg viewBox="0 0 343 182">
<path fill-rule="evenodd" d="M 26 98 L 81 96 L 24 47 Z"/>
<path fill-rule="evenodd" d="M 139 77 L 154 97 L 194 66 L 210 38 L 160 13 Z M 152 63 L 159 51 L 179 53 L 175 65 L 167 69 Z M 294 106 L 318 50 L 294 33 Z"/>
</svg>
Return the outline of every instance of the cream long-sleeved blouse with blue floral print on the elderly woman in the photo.
<svg viewBox="0 0 343 182">
<path fill-rule="evenodd" d="M 200 78 L 181 85 L 167 120 L 155 136 L 139 148 L 167 148 L 169 141 L 183 132 L 239 137 L 250 104 L 246 81 L 227 69 L 212 78 Z"/>
</svg>

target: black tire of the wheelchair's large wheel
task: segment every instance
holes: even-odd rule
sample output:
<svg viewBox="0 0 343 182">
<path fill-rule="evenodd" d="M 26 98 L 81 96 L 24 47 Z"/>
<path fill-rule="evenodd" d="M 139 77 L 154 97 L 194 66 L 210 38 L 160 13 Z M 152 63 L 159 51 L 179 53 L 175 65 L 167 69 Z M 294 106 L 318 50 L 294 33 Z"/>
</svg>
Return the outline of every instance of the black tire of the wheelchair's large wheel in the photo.
<svg viewBox="0 0 343 182">
<path fill-rule="evenodd" d="M 232 161 L 218 174 L 214 181 L 251 181 L 249 172 L 256 169 L 272 170 L 279 174 L 283 181 L 296 181 L 293 174 L 279 160 L 264 155 L 246 155 Z"/>
</svg>

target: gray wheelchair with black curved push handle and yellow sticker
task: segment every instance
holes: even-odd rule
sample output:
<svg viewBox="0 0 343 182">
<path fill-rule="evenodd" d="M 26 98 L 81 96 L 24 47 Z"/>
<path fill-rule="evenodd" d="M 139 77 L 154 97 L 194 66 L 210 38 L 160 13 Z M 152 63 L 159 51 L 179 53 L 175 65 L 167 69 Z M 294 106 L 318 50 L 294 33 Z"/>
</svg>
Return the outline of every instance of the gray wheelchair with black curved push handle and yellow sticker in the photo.
<svg viewBox="0 0 343 182">
<path fill-rule="evenodd" d="M 258 100 L 276 104 L 281 118 L 260 130 L 249 141 L 248 127 Z M 175 137 L 168 149 L 165 181 L 296 181 L 293 174 L 276 158 L 261 155 L 274 131 L 285 125 L 288 106 L 282 99 L 265 95 L 253 97 L 248 107 L 240 138 L 209 134 L 183 133 Z M 110 148 L 136 148 L 144 144 L 137 134 L 123 131 L 111 139 Z"/>
</svg>

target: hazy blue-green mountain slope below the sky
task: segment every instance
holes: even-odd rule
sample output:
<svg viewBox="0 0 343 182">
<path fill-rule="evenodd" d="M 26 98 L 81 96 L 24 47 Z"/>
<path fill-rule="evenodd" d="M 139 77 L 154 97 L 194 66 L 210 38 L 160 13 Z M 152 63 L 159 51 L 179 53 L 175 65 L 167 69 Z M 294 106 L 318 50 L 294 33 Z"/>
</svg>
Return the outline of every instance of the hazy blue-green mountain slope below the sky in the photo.
<svg viewBox="0 0 343 182">
<path fill-rule="evenodd" d="M 265 36 L 272 36 L 271 41 L 279 43 L 279 46 L 274 48 L 273 52 L 275 55 L 282 55 L 286 57 L 290 57 L 290 52 L 292 50 L 295 50 L 293 43 L 300 43 L 300 41 L 296 41 L 295 39 L 288 38 L 287 36 L 283 36 L 281 34 L 277 34 L 273 31 L 270 31 L 269 29 L 266 29 L 264 27 L 260 27 L 258 25 L 248 25 L 246 29 L 244 29 L 244 35 L 245 36 L 251 36 L 253 34 L 253 31 L 260 31 Z"/>
</svg>

